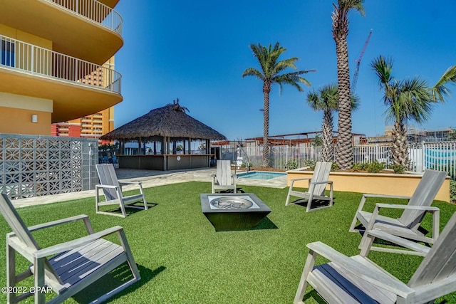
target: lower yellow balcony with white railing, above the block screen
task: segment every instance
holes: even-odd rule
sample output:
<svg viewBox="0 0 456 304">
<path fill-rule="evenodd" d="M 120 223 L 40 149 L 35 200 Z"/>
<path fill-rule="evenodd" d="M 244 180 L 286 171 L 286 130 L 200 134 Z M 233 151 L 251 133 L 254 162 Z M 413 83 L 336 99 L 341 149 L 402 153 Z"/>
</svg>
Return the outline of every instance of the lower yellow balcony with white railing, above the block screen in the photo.
<svg viewBox="0 0 456 304">
<path fill-rule="evenodd" d="M 111 68 L 0 35 L 0 92 L 53 100 L 52 122 L 120 103 L 120 81 Z"/>
</svg>

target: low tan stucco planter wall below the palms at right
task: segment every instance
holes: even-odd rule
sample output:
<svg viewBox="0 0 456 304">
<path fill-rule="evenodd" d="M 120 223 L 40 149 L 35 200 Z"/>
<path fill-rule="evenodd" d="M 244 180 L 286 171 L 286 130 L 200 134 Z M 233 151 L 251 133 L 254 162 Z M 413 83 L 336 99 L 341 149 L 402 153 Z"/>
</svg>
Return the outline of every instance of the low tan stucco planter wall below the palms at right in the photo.
<svg viewBox="0 0 456 304">
<path fill-rule="evenodd" d="M 288 185 L 291 179 L 312 177 L 314 172 L 290 170 Z M 331 172 L 329 180 L 333 181 L 334 191 L 348 191 L 371 194 L 390 194 L 411 196 L 420 182 L 420 174 L 388 174 L 388 173 L 356 173 L 356 172 Z M 309 182 L 298 181 L 294 187 L 309 187 Z M 450 177 L 445 179 L 440 191 L 435 196 L 439 201 L 450 202 Z"/>
</svg>

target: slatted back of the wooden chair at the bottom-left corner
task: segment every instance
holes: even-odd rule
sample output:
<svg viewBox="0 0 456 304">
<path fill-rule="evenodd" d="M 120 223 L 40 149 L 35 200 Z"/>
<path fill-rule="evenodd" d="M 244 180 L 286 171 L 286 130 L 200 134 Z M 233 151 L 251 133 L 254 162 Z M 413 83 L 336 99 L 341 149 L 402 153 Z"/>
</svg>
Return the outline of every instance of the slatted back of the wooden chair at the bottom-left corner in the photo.
<svg viewBox="0 0 456 304">
<path fill-rule="evenodd" d="M 0 196 L 0 213 L 19 241 L 24 243 L 24 246 L 31 249 L 31 251 L 38 251 L 41 249 L 6 194 L 1 194 Z M 49 263 L 47 259 L 44 263 L 44 269 L 46 270 L 46 276 L 51 277 L 53 281 L 62 283 L 61 278 L 58 277 L 56 271 L 54 271 L 51 263 Z"/>
</svg>

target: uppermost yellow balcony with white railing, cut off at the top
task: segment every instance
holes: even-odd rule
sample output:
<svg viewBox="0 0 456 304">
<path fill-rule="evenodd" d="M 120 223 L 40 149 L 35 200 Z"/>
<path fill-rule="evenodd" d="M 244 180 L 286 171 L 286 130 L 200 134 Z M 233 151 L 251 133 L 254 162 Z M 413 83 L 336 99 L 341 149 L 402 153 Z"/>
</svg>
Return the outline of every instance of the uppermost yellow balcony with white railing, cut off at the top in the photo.
<svg viewBox="0 0 456 304">
<path fill-rule="evenodd" d="M 56 52 L 97 64 L 123 46 L 122 17 L 96 0 L 4 0 L 0 23 L 52 41 Z"/>
</svg>

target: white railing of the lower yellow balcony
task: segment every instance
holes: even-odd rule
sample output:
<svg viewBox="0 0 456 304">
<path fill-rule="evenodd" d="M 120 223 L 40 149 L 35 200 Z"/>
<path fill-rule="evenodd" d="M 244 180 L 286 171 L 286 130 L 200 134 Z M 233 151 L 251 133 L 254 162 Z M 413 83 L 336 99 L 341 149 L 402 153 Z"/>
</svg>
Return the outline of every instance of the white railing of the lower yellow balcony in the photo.
<svg viewBox="0 0 456 304">
<path fill-rule="evenodd" d="M 0 68 L 97 86 L 120 94 L 122 75 L 113 69 L 1 35 Z"/>
</svg>

